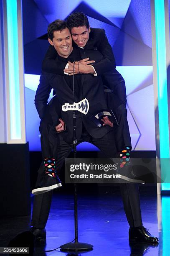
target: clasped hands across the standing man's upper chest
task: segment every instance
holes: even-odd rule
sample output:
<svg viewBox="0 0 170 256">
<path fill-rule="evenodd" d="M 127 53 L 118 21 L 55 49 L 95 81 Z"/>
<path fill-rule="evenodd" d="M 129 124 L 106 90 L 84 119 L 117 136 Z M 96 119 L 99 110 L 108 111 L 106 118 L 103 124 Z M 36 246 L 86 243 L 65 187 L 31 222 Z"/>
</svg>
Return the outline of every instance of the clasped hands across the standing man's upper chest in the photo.
<svg viewBox="0 0 170 256">
<path fill-rule="evenodd" d="M 75 61 L 75 65 L 68 61 L 69 68 L 64 69 L 64 72 L 69 73 L 69 75 L 73 75 L 73 67 L 74 67 L 74 74 L 94 74 L 94 69 L 91 67 L 93 66 L 91 63 L 94 63 L 94 60 L 90 60 L 89 58 L 82 59 L 80 61 Z"/>
</svg>

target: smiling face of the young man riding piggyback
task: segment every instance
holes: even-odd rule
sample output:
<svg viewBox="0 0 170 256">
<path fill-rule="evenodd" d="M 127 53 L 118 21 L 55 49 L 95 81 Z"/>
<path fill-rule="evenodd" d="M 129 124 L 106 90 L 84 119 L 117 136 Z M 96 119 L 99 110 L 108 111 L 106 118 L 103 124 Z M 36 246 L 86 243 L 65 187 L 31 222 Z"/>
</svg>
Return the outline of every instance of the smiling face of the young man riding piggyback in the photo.
<svg viewBox="0 0 170 256">
<path fill-rule="evenodd" d="M 71 28 L 71 35 L 75 44 L 79 47 L 84 47 L 89 40 L 90 27 L 86 28 L 86 26 L 82 27 L 74 27 Z"/>
</svg>

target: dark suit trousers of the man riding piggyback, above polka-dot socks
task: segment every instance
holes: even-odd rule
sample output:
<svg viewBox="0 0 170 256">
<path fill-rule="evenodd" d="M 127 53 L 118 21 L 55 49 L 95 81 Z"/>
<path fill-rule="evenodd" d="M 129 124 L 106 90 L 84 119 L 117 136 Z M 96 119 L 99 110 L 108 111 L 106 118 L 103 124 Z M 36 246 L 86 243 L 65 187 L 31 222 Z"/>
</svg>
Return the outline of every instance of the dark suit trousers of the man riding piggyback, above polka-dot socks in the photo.
<svg viewBox="0 0 170 256">
<path fill-rule="evenodd" d="M 123 83 L 123 82 L 122 82 Z M 123 91 L 122 84 L 119 84 L 118 91 Z M 120 93 L 121 94 L 121 93 Z M 124 93 L 122 92 L 122 95 Z M 125 146 L 131 147 L 131 138 L 129 133 L 129 125 L 127 122 L 127 109 L 121 100 L 112 92 L 105 92 L 107 106 L 109 110 L 112 110 L 117 118 L 119 125 L 114 124 L 115 142 L 117 147 L 117 152 L 122 150 Z M 55 157 L 53 152 L 56 151 L 57 141 L 56 141 L 56 130 L 55 124 L 57 125 L 57 120 L 60 117 L 60 108 L 57 107 L 58 98 L 56 96 L 49 102 L 46 113 L 41 120 L 40 133 L 41 133 L 41 149 L 44 158 Z M 55 141 L 55 143 L 54 143 Z"/>
</svg>

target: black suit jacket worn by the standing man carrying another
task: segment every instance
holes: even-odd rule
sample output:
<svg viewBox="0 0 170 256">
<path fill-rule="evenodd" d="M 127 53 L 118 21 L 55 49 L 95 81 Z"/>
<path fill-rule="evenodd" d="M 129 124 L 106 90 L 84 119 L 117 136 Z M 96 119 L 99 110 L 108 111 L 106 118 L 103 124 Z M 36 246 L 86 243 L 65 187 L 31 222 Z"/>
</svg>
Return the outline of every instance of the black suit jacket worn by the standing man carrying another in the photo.
<svg viewBox="0 0 170 256">
<path fill-rule="evenodd" d="M 81 56 L 84 55 L 84 51 L 81 49 L 76 49 L 79 51 Z M 99 52 L 91 51 L 92 57 L 95 57 L 96 62 L 101 59 Z M 58 57 L 57 57 L 58 58 Z M 79 59 L 75 59 L 79 60 Z M 65 61 L 64 65 L 66 64 Z M 61 61 L 60 61 L 61 63 Z M 68 79 L 68 75 L 60 75 L 60 74 L 51 74 L 47 72 L 41 72 L 40 84 L 38 85 L 38 89 L 35 97 L 35 104 L 40 118 L 43 118 L 43 115 L 46 110 L 47 100 L 49 97 L 49 93 L 53 88 L 58 96 L 58 100 L 60 105 L 65 103 L 73 104 L 73 91 L 69 87 L 66 82 L 66 76 Z M 73 77 L 69 77 L 73 79 Z M 76 78 L 76 76 L 75 76 Z M 93 74 L 81 74 L 81 88 L 80 95 L 76 97 L 76 102 L 87 98 L 89 101 L 89 112 L 84 115 L 82 113 L 77 112 L 76 118 L 76 136 L 79 139 L 82 131 L 82 123 L 86 130 L 89 132 L 91 136 L 94 138 L 101 138 L 106 133 L 112 130 L 112 128 L 108 125 L 105 125 L 102 128 L 99 128 L 95 125 L 89 118 L 91 115 L 98 113 L 100 110 L 107 109 L 107 102 L 104 95 L 103 83 L 100 75 L 94 77 Z M 65 141 L 72 142 L 73 138 L 73 113 L 72 111 L 63 112 L 61 111 L 61 118 L 66 123 L 67 130 L 62 132 L 62 136 Z"/>
</svg>

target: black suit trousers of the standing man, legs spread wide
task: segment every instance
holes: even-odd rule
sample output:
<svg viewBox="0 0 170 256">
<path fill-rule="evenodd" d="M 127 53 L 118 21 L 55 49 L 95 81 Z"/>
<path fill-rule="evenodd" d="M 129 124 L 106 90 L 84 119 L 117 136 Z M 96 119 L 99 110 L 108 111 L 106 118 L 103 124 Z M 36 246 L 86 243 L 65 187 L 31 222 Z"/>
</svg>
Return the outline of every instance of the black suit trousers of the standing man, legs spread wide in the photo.
<svg viewBox="0 0 170 256">
<path fill-rule="evenodd" d="M 54 140 L 54 133 L 51 137 Z M 115 158 L 117 157 L 117 148 L 114 139 L 114 131 L 110 131 L 102 138 L 93 138 L 89 135 L 89 133 L 83 129 L 81 138 L 78 141 L 78 144 L 87 141 L 95 146 L 97 146 L 102 152 L 103 157 L 108 158 Z M 52 148 L 51 150 L 55 151 L 53 157 L 56 160 L 56 171 L 61 169 L 65 158 L 67 158 L 73 148 L 72 143 L 66 143 L 63 140 L 63 137 L 60 134 L 56 135 L 56 148 Z M 44 174 L 44 166 L 43 163 L 38 170 L 38 180 L 41 179 L 42 175 Z M 124 210 L 127 216 L 128 223 L 130 227 L 138 227 L 142 225 L 142 218 L 141 218 L 141 210 L 140 210 L 140 196 L 139 196 L 139 189 L 137 184 L 120 184 L 121 188 L 121 195 L 124 204 Z M 34 197 L 34 204 L 33 204 L 33 215 L 31 220 L 31 225 L 35 226 L 36 228 L 44 228 L 46 226 L 46 222 L 48 220 L 48 215 L 51 207 L 51 198 L 52 198 L 52 191 L 46 192 L 41 195 L 35 195 Z"/>
</svg>

